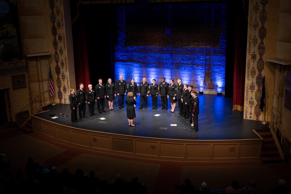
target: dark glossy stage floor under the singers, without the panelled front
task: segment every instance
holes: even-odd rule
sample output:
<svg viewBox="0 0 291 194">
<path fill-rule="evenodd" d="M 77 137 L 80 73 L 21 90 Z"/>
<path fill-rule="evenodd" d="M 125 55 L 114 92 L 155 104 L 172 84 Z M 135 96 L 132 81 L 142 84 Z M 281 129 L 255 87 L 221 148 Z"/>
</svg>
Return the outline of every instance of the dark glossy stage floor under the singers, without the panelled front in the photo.
<svg viewBox="0 0 291 194">
<path fill-rule="evenodd" d="M 168 102 L 168 111 L 161 110 L 161 100 L 158 97 L 158 109 L 152 110 L 151 97 L 148 97 L 148 108 L 138 109 L 139 96 L 136 101 L 136 127 L 129 127 L 125 108 L 118 108 L 118 97 L 113 101 L 113 111 L 109 111 L 108 101 L 105 100 L 106 113 L 100 114 L 95 103 L 96 116 L 89 116 L 86 105 L 86 116 L 78 123 L 71 122 L 71 109 L 69 104 L 56 104 L 44 107 L 48 110 L 35 114 L 36 117 L 63 124 L 70 127 L 101 131 L 114 134 L 141 136 L 150 138 L 182 139 L 182 140 L 242 140 L 257 139 L 258 135 L 253 130 L 269 129 L 267 124 L 261 121 L 243 119 L 243 112 L 232 111 L 233 98 L 225 98 L 217 95 L 198 95 L 199 117 L 198 132 L 191 132 L 191 127 L 186 119 L 177 115 L 178 102 L 174 113 L 170 113 L 171 103 Z M 59 115 L 61 111 L 68 117 Z M 78 111 L 77 111 L 78 112 Z M 49 117 L 55 114 L 57 118 Z M 77 113 L 79 115 L 79 113 Z M 159 114 L 159 116 L 155 116 Z M 65 114 L 64 114 L 65 115 Z M 78 116 L 79 118 L 79 116 Z M 102 120 L 103 119 L 103 120 Z M 173 126 L 176 125 L 176 126 Z"/>
</svg>

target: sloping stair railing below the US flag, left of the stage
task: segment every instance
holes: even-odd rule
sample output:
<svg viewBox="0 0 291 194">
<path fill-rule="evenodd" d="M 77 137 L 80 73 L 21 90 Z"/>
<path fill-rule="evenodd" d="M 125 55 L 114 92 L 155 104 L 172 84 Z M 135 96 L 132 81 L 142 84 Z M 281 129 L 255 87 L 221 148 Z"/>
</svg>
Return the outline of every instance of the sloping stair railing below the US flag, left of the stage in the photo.
<svg viewBox="0 0 291 194">
<path fill-rule="evenodd" d="M 45 93 L 47 93 L 47 96 L 45 96 Z M 45 104 L 45 102 L 47 103 Z M 31 114 L 37 113 L 44 105 L 47 104 L 51 104 L 49 90 L 40 92 L 15 115 L 17 130 L 19 131 L 19 128 L 22 127 L 22 125 L 31 118 Z"/>
</svg>

